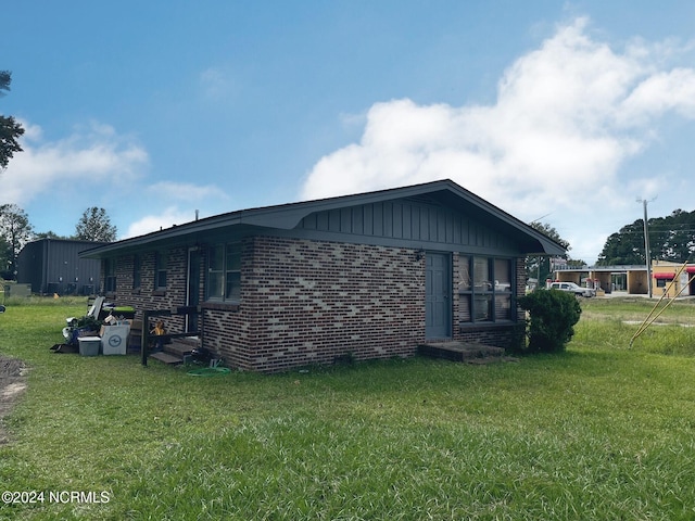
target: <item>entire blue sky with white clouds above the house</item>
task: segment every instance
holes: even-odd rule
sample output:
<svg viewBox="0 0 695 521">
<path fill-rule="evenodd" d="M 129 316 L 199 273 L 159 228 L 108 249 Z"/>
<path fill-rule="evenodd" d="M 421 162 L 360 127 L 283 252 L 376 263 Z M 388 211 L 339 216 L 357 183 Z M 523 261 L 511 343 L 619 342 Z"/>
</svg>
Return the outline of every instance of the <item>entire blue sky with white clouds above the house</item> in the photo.
<svg viewBox="0 0 695 521">
<path fill-rule="evenodd" d="M 0 203 L 119 238 L 451 178 L 594 263 L 695 208 L 695 2 L 3 1 Z"/>
</svg>

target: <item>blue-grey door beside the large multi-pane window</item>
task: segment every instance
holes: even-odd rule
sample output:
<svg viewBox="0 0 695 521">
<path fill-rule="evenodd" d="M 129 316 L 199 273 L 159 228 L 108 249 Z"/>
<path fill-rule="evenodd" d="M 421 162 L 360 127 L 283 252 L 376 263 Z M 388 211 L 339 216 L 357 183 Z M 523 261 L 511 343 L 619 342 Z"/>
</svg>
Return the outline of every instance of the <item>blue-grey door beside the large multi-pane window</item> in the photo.
<svg viewBox="0 0 695 521">
<path fill-rule="evenodd" d="M 425 336 L 451 338 L 451 257 L 442 253 L 428 253 L 425 269 Z"/>
</svg>

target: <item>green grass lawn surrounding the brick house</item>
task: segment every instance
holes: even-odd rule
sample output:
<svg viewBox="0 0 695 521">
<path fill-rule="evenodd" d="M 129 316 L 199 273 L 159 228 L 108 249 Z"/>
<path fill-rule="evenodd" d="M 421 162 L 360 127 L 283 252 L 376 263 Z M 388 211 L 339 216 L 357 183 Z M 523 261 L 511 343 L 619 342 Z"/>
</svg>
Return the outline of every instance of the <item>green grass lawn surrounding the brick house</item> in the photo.
<svg viewBox="0 0 695 521">
<path fill-rule="evenodd" d="M 0 519 L 693 519 L 695 328 L 674 323 L 695 307 L 630 348 L 624 321 L 649 303 L 582 306 L 566 353 L 517 364 L 216 378 L 55 355 L 86 306 L 8 306 L 0 353 L 30 372 L 0 483 L 109 503 L 0 505 Z"/>
</svg>

